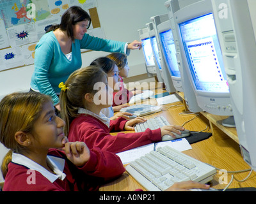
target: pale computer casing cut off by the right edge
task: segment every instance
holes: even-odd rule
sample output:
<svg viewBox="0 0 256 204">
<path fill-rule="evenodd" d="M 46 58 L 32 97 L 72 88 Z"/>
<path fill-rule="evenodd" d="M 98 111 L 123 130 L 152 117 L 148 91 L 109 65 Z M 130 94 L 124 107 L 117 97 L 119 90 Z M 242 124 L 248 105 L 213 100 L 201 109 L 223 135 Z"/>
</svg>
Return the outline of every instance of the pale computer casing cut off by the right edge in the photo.
<svg viewBox="0 0 256 204">
<path fill-rule="evenodd" d="M 212 0 L 241 152 L 256 170 L 256 1 Z"/>
</svg>

